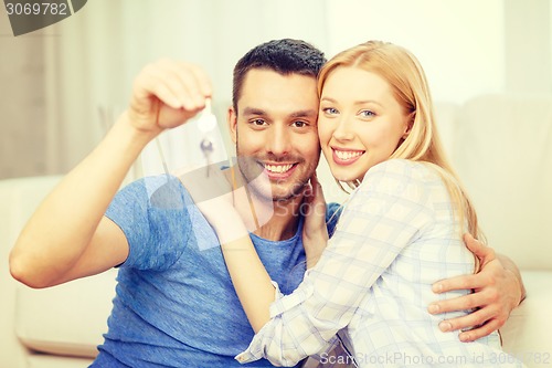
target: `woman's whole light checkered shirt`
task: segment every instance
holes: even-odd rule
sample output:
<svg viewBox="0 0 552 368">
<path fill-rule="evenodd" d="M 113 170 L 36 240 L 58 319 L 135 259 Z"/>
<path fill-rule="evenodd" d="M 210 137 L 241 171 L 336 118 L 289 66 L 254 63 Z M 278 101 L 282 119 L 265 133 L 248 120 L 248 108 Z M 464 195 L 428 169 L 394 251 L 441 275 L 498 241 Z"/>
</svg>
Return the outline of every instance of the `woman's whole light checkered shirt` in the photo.
<svg viewBox="0 0 552 368">
<path fill-rule="evenodd" d="M 438 280 L 474 272 L 460 230 L 431 166 L 399 159 L 374 166 L 351 194 L 318 264 L 291 295 L 278 293 L 272 319 L 236 359 L 293 366 L 318 354 L 331 364 L 325 351 L 346 327 L 346 346 L 360 367 L 508 362 L 497 333 L 461 343 L 458 332 L 438 329 L 442 319 L 468 312 L 427 312 L 436 298 L 468 293 L 432 292 Z"/>
</svg>

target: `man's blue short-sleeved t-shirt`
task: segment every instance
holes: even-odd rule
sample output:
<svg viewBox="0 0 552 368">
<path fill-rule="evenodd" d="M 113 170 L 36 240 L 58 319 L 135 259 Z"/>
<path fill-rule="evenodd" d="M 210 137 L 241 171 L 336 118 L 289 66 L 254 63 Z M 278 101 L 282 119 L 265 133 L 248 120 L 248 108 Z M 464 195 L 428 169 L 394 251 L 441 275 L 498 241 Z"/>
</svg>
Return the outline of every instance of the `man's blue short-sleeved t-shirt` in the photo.
<svg viewBox="0 0 552 368">
<path fill-rule="evenodd" d="M 328 204 L 329 232 L 338 217 Z M 124 231 L 120 265 L 105 341 L 92 367 L 273 367 L 240 365 L 254 332 L 226 270 L 216 234 L 182 186 L 170 176 L 124 188 L 106 215 Z M 285 294 L 305 272 L 302 218 L 288 240 L 251 234 L 272 280 Z"/>
</svg>

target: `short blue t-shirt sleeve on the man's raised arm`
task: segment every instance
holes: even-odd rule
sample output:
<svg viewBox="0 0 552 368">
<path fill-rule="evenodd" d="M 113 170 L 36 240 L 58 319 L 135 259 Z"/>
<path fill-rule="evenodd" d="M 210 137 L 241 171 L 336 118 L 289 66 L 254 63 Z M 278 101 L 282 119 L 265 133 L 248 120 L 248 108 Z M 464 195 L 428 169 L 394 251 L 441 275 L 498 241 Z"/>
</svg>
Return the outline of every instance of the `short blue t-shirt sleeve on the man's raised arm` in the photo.
<svg viewBox="0 0 552 368">
<path fill-rule="evenodd" d="M 189 202 L 180 180 L 171 176 L 147 177 L 123 188 L 105 213 L 128 241 L 129 254 L 120 266 L 170 267 L 190 236 Z"/>
</svg>

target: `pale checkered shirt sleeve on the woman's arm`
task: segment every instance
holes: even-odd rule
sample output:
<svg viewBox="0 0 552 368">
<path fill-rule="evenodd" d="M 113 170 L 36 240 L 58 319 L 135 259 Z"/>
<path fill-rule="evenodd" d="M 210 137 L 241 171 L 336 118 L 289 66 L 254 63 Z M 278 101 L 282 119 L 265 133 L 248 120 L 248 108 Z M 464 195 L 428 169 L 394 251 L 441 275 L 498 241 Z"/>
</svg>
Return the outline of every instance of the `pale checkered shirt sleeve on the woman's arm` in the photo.
<svg viewBox="0 0 552 368">
<path fill-rule="evenodd" d="M 236 359 L 293 366 L 335 343 L 371 285 L 433 222 L 422 164 L 389 160 L 371 168 L 343 208 L 318 264 L 290 295 L 270 306 L 270 320 Z"/>
</svg>

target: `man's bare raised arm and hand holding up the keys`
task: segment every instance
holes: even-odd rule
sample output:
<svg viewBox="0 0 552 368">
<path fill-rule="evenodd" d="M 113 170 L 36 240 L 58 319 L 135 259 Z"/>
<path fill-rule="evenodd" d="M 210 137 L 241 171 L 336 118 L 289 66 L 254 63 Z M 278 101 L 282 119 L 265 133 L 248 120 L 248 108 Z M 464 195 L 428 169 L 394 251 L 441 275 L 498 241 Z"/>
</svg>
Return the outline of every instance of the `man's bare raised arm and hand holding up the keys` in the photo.
<svg viewBox="0 0 552 368">
<path fill-rule="evenodd" d="M 102 143 L 44 199 L 10 254 L 10 272 L 31 287 L 47 287 L 123 263 L 128 243 L 104 217 L 144 147 L 163 129 L 204 107 L 211 90 L 192 65 L 161 61 L 135 81 L 129 108 Z"/>
</svg>

